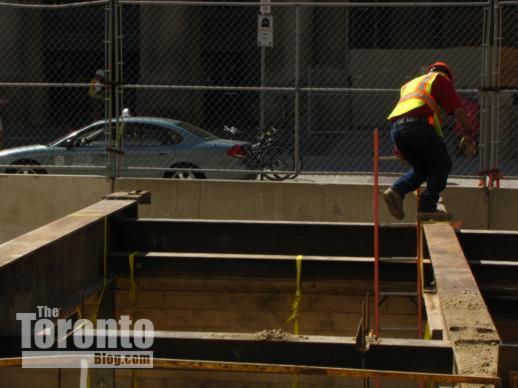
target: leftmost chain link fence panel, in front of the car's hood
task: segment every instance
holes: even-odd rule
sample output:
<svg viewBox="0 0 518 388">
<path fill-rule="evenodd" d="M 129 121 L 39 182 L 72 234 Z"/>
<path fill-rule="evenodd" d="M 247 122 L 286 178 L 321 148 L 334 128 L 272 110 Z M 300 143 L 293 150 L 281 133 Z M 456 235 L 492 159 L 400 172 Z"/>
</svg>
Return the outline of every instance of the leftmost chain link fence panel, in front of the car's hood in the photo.
<svg viewBox="0 0 518 388">
<path fill-rule="evenodd" d="M 90 79 L 106 67 L 105 19 L 103 1 L 52 6 L 0 3 L 1 145 L 21 147 L 1 153 L 2 170 L 105 173 L 103 156 L 94 161 L 85 152 L 66 152 L 64 143 L 48 147 L 74 128 L 105 117 L 104 93 L 95 106 L 88 96 Z M 27 147 L 33 144 L 37 145 Z M 104 142 L 98 148 L 105 156 Z M 42 168 L 5 166 L 11 164 Z"/>
</svg>

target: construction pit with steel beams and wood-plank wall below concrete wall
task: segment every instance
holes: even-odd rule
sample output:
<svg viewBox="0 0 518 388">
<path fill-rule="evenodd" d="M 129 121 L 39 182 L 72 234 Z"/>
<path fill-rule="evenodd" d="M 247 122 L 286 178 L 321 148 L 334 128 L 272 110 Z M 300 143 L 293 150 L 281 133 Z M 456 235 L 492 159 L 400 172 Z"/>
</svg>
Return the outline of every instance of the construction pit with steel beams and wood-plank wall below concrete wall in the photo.
<svg viewBox="0 0 518 388">
<path fill-rule="evenodd" d="M 0 245 L 1 387 L 517 386 L 517 232 L 382 225 L 378 261 L 373 224 L 139 218 L 149 199 Z M 149 319 L 153 368 L 23 354 L 16 314 L 38 306 Z"/>
</svg>

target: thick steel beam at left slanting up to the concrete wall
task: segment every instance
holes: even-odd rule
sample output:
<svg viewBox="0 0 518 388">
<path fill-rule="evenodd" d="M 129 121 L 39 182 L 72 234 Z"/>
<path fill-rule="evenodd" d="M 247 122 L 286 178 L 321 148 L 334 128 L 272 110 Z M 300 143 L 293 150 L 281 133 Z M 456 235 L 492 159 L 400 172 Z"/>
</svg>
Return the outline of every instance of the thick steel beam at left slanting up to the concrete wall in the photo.
<svg viewBox="0 0 518 388">
<path fill-rule="evenodd" d="M 0 335 L 19 333 L 16 313 L 67 308 L 102 279 L 109 224 L 119 216 L 136 217 L 137 202 L 100 201 L 0 245 Z"/>
</svg>

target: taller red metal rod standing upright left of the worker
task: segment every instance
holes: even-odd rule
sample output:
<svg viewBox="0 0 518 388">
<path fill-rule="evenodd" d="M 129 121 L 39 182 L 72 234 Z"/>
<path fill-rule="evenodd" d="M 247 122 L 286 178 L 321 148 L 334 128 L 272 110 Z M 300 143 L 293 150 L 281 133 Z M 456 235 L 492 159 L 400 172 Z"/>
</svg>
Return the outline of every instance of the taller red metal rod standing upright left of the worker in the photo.
<svg viewBox="0 0 518 388">
<path fill-rule="evenodd" d="M 374 130 L 374 334 L 379 337 L 379 131 Z"/>
</svg>

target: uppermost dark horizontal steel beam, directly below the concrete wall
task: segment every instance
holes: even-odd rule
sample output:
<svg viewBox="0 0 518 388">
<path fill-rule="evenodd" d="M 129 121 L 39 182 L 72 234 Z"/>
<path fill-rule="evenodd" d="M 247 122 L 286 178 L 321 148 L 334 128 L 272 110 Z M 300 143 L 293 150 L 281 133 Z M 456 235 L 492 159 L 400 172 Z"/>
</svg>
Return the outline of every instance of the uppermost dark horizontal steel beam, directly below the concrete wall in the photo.
<svg viewBox="0 0 518 388">
<path fill-rule="evenodd" d="M 127 219 L 114 223 L 114 251 L 320 256 L 372 255 L 372 224 Z M 411 257 L 415 226 L 382 226 L 380 256 Z"/>
</svg>

